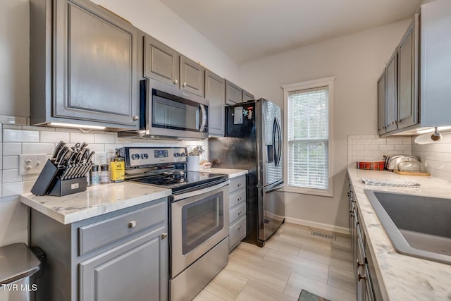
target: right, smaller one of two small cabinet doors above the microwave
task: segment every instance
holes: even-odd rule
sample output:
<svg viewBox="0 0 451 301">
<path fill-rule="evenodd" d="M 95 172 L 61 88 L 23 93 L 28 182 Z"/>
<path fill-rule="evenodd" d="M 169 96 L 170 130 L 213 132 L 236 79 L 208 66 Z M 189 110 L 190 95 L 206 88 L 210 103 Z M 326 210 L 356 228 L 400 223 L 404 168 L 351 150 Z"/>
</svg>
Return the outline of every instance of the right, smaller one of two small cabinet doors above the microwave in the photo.
<svg viewBox="0 0 451 301">
<path fill-rule="evenodd" d="M 205 97 L 205 68 L 180 56 L 180 89 Z"/>
</svg>

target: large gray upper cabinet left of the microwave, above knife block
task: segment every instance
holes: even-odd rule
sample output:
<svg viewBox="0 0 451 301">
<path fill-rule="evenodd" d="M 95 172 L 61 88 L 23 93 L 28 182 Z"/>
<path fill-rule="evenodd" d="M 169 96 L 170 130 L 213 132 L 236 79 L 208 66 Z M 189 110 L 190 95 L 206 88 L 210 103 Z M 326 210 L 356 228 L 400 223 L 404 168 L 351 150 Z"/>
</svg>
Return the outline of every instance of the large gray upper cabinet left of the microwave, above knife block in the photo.
<svg viewBox="0 0 451 301">
<path fill-rule="evenodd" d="M 31 0 L 32 124 L 137 128 L 138 45 L 135 27 L 90 1 Z"/>
</svg>

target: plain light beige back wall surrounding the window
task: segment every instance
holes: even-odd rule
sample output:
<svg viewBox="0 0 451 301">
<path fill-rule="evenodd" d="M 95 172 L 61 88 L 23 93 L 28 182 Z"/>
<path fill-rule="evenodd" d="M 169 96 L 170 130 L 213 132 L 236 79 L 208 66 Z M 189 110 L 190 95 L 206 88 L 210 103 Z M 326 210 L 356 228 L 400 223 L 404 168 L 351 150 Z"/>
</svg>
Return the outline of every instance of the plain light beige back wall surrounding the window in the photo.
<svg viewBox="0 0 451 301">
<path fill-rule="evenodd" d="M 402 20 L 268 56 L 240 67 L 245 87 L 281 106 L 281 85 L 335 76 L 333 197 L 286 193 L 288 221 L 308 221 L 342 231 L 348 228 L 345 199 L 347 135 L 376 135 L 376 82 L 409 23 L 410 20 Z"/>
</svg>

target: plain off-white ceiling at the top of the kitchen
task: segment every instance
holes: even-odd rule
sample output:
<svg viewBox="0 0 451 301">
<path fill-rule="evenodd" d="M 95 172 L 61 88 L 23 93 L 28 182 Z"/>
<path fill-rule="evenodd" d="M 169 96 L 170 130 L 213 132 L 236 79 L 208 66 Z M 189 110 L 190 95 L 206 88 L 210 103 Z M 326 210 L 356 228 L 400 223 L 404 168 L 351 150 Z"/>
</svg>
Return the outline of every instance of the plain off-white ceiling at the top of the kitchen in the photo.
<svg viewBox="0 0 451 301">
<path fill-rule="evenodd" d="M 421 0 L 161 0 L 237 63 L 411 18 Z"/>
</svg>

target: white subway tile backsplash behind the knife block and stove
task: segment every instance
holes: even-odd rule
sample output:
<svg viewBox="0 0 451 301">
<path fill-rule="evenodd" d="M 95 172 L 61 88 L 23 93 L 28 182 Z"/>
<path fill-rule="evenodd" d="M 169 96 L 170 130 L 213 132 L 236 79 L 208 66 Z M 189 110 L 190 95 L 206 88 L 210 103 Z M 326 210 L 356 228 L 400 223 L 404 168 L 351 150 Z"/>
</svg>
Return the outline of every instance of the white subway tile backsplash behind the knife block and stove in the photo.
<svg viewBox="0 0 451 301">
<path fill-rule="evenodd" d="M 137 138 L 119 138 L 116 133 L 92 131 L 80 133 L 76 129 L 46 128 L 25 125 L 0 124 L 0 199 L 12 195 L 30 192 L 38 175 L 20 176 L 18 171 L 19 154 L 47 154 L 53 153 L 56 143 L 61 140 L 73 146 L 77 142 L 87 142 L 89 149 L 94 152 L 106 152 L 108 159 L 114 155 L 116 148 L 124 146 L 140 147 L 186 147 L 187 145 L 202 145 L 208 156 L 208 140 L 149 140 Z"/>
</svg>

